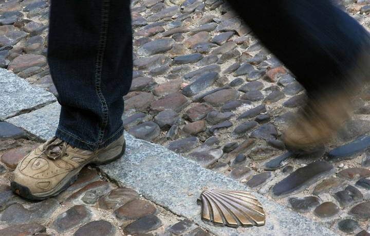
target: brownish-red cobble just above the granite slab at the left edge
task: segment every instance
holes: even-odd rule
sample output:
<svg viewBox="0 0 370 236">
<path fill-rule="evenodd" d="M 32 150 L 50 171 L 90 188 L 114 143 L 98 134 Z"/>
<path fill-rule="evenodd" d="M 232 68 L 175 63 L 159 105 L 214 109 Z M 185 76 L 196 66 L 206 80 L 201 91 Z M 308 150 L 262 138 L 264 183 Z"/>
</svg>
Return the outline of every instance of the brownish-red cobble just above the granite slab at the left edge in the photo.
<svg viewBox="0 0 370 236">
<path fill-rule="evenodd" d="M 21 72 L 30 67 L 43 67 L 46 65 L 46 58 L 42 55 L 25 54 L 16 57 L 8 66 L 14 73 Z"/>
</svg>

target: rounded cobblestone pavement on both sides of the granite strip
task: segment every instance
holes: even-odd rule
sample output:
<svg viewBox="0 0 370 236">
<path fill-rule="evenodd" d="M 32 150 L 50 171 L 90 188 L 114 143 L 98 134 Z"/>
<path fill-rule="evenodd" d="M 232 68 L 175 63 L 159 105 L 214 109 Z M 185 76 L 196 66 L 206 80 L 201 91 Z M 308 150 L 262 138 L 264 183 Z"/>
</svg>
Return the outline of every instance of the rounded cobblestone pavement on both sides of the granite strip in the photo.
<svg viewBox="0 0 370 236">
<path fill-rule="evenodd" d="M 370 1 L 336 2 L 369 28 Z M 46 0 L 0 0 L 0 67 L 58 96 L 45 58 L 48 12 Z M 370 235 L 366 233 L 370 232 L 368 92 L 354 100 L 356 115 L 338 137 L 315 154 L 295 158 L 285 150 L 280 135 L 304 103 L 303 88 L 228 4 L 134 0 L 132 18 L 135 79 L 124 97 L 122 117 L 130 134 L 237 179 L 338 234 Z M 45 99 L 39 106 L 29 104 L 8 115 L 0 112 L 0 119 L 50 102 Z M 106 230 L 99 235 L 114 235 L 113 228 L 118 235 L 140 227 L 142 232 L 171 235 L 169 227 L 181 220 L 133 190 L 117 189 L 88 168 L 56 199 L 25 202 L 9 192 L 9 177 L 36 143 L 7 122 L 0 122 L 0 140 L 5 165 L 0 165 L 0 221 L 4 222 L 0 235 L 9 235 L 4 233 L 9 228 L 2 229 L 7 226 L 32 233 L 46 227 L 55 235 L 71 235 L 77 229 L 76 235 L 91 234 L 84 230 L 98 226 Z M 140 218 L 143 215 L 149 216 Z M 104 221 L 93 222 L 97 219 Z M 43 226 L 14 226 L 33 220 Z M 86 223 L 92 227 L 82 226 Z M 203 235 L 196 234 L 201 229 L 189 222 L 172 228 Z"/>
</svg>

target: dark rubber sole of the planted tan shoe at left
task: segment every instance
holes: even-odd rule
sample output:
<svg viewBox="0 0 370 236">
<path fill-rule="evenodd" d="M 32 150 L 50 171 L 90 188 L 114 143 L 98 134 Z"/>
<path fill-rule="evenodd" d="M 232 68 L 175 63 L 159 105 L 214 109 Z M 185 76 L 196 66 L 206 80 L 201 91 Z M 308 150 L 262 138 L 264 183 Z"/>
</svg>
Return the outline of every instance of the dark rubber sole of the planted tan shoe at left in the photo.
<svg viewBox="0 0 370 236">
<path fill-rule="evenodd" d="M 113 158 L 110 158 L 108 160 L 105 160 L 104 162 L 94 162 L 94 159 L 92 159 L 91 162 L 88 162 L 85 165 L 81 166 L 80 168 L 71 171 L 66 177 L 64 177 L 64 179 L 62 179 L 62 181 L 60 181 L 60 183 L 57 186 L 55 186 L 53 189 L 51 189 L 47 192 L 44 192 L 44 193 L 32 194 L 28 187 L 26 187 L 24 185 L 21 185 L 21 184 L 18 184 L 15 181 L 11 182 L 10 189 L 15 194 L 20 195 L 24 198 L 34 200 L 34 201 L 41 201 L 41 200 L 47 199 L 49 197 L 56 196 L 59 193 L 61 193 L 62 191 L 66 190 L 70 185 L 72 185 L 77 180 L 77 177 L 78 177 L 81 169 L 83 167 L 85 167 L 86 165 L 89 165 L 89 164 L 97 164 L 97 165 L 108 164 L 110 162 L 113 162 L 113 161 L 118 160 L 119 158 L 121 158 L 123 156 L 123 154 L 125 153 L 125 151 L 126 151 L 126 142 L 123 143 L 122 151 L 119 155 L 117 155 Z"/>
</svg>

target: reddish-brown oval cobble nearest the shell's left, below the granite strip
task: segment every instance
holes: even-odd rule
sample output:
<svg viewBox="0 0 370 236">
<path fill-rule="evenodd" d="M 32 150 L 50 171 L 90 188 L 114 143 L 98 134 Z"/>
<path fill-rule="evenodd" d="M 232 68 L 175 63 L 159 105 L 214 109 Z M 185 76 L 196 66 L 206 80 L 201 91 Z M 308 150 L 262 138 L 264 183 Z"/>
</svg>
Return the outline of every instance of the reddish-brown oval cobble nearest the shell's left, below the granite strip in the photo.
<svg viewBox="0 0 370 236">
<path fill-rule="evenodd" d="M 145 215 L 154 214 L 156 208 L 147 201 L 134 200 L 116 210 L 116 216 L 123 220 L 137 220 Z"/>
</svg>

